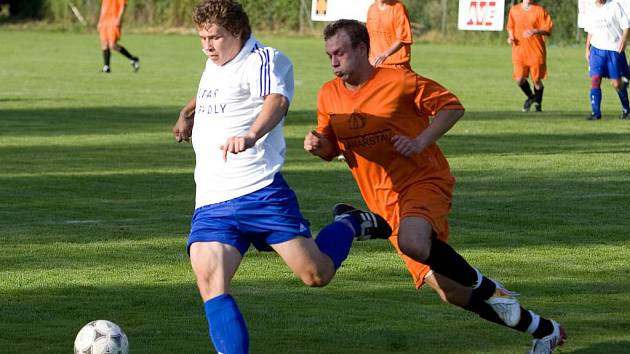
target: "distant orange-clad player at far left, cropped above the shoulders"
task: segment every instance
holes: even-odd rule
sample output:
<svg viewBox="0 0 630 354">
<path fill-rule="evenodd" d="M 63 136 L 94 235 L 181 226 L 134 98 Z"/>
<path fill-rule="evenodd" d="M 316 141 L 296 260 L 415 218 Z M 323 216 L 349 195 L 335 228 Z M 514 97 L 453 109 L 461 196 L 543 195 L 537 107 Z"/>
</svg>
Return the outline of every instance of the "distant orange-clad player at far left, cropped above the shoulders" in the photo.
<svg viewBox="0 0 630 354">
<path fill-rule="evenodd" d="M 98 20 L 98 33 L 101 38 L 101 49 L 103 50 L 103 72 L 110 73 L 111 49 L 124 55 L 131 61 L 131 67 L 134 72 L 140 69 L 140 59 L 131 55 L 123 47 L 118 44 L 121 36 L 122 15 L 125 12 L 127 0 L 103 0 L 101 3 L 101 16 Z"/>
</svg>

